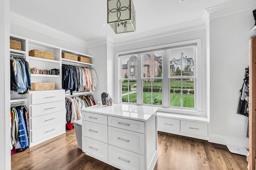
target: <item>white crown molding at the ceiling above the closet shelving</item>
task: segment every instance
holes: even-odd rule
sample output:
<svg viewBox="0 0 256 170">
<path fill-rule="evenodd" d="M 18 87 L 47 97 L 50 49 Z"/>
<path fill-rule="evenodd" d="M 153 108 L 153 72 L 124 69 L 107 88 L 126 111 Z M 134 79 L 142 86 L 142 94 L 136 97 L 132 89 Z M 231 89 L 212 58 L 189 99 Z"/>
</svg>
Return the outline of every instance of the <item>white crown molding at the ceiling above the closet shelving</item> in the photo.
<svg viewBox="0 0 256 170">
<path fill-rule="evenodd" d="M 27 18 L 25 16 L 22 16 L 20 14 L 12 12 L 12 11 L 10 11 L 10 23 L 20 25 L 20 26 L 28 28 L 30 30 L 41 32 L 43 34 L 47 34 L 49 36 L 58 38 L 60 40 L 66 41 L 66 42 L 70 42 L 70 43 L 74 43 L 76 45 L 80 45 L 82 47 L 86 47 L 86 41 L 84 41 L 80 38 L 71 36 L 70 34 L 66 34 L 64 32 L 61 32 L 61 31 L 55 29 L 55 28 L 46 26 L 40 22 L 31 20 L 30 18 Z"/>
</svg>

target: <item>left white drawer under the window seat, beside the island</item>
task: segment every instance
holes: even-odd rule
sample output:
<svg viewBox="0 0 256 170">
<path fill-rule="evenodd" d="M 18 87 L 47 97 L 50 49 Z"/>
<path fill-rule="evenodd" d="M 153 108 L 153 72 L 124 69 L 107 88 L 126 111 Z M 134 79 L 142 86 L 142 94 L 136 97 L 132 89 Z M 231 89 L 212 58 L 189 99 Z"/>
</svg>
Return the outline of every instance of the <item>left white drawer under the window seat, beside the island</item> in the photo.
<svg viewBox="0 0 256 170">
<path fill-rule="evenodd" d="M 180 131 L 180 120 L 158 117 L 157 118 L 157 127 L 179 132 Z"/>
</svg>

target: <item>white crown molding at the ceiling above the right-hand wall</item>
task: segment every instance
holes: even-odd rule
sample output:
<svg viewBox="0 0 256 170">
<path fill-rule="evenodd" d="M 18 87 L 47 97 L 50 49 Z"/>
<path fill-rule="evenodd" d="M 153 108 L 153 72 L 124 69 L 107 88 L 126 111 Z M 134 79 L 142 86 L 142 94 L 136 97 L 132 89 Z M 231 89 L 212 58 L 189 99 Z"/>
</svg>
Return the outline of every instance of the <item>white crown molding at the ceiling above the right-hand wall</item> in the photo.
<svg viewBox="0 0 256 170">
<path fill-rule="evenodd" d="M 206 8 L 209 13 L 209 19 L 228 16 L 256 8 L 255 0 L 236 0 L 227 4 Z"/>
</svg>

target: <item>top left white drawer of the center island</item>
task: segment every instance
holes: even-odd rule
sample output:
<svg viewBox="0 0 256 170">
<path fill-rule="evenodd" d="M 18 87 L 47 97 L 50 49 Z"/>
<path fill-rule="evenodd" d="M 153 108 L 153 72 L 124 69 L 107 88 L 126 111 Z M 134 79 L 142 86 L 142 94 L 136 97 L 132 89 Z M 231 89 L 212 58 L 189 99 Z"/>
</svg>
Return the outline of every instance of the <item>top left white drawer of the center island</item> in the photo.
<svg viewBox="0 0 256 170">
<path fill-rule="evenodd" d="M 82 112 L 82 119 L 85 121 L 108 125 L 108 116 L 95 113 Z"/>
</svg>

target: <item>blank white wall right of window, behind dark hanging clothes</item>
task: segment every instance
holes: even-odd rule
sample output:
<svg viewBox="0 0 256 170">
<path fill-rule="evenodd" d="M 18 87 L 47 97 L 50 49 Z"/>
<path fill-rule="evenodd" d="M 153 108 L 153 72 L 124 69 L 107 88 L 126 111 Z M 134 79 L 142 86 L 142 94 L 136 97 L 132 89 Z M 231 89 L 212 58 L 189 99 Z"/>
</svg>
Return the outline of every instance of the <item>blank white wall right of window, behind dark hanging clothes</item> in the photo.
<svg viewBox="0 0 256 170">
<path fill-rule="evenodd" d="M 251 11 L 210 19 L 210 142 L 248 147 L 248 119 L 236 111 L 253 26 Z"/>
</svg>

